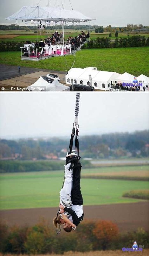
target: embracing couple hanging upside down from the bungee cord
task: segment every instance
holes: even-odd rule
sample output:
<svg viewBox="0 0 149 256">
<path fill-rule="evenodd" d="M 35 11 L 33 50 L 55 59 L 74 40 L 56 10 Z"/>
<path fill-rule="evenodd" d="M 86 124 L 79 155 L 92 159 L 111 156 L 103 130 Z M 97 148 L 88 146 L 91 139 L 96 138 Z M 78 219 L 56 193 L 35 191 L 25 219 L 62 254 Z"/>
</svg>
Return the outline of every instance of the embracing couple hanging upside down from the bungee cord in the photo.
<svg viewBox="0 0 149 256">
<path fill-rule="evenodd" d="M 78 159 L 74 153 L 66 157 L 65 182 L 60 191 L 60 216 L 53 219 L 54 226 L 57 228 L 58 223 L 64 224 L 63 229 L 66 232 L 76 229 L 84 215 L 80 187 L 81 163 L 79 160 L 80 157 Z"/>
</svg>

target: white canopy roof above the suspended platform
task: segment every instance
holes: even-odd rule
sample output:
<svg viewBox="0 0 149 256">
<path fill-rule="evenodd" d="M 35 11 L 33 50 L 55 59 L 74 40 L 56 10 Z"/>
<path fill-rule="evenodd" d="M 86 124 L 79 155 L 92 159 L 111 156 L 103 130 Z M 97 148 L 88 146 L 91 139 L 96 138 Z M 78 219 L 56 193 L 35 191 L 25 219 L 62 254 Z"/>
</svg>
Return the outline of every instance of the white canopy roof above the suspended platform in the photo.
<svg viewBox="0 0 149 256">
<path fill-rule="evenodd" d="M 88 21 L 95 20 L 74 10 L 61 8 L 24 6 L 18 12 L 6 18 L 7 20 L 54 20 L 54 21 Z"/>
</svg>

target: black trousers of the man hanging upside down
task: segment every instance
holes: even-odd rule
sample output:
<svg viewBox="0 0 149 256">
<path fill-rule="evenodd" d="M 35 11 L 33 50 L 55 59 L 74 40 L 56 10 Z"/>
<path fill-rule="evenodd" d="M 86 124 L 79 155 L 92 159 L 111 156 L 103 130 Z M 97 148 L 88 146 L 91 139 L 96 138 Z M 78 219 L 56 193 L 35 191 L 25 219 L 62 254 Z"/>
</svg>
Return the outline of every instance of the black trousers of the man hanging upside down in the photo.
<svg viewBox="0 0 149 256">
<path fill-rule="evenodd" d="M 80 179 L 81 179 L 81 163 L 74 163 L 73 168 L 73 181 L 72 181 L 72 191 L 71 191 L 71 200 L 73 205 L 83 205 L 83 197 L 81 194 L 81 186 L 80 186 Z"/>
</svg>

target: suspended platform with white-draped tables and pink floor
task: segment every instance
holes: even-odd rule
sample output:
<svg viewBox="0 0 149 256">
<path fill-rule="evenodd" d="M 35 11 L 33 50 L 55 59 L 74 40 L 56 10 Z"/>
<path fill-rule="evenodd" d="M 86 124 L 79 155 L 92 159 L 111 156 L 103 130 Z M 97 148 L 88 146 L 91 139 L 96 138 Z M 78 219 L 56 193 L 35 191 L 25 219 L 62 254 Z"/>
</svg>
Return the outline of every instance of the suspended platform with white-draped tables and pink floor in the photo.
<svg viewBox="0 0 149 256">
<path fill-rule="evenodd" d="M 21 60 L 38 61 L 51 57 L 61 57 L 65 55 L 71 55 L 81 50 L 82 46 L 87 43 L 84 41 L 79 47 L 72 49 L 71 44 L 57 44 L 57 45 L 45 45 L 45 47 L 34 47 L 33 44 L 24 44 L 21 47 Z"/>
</svg>

